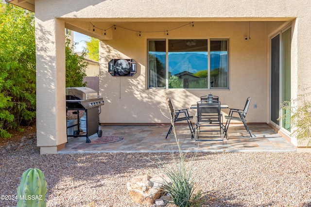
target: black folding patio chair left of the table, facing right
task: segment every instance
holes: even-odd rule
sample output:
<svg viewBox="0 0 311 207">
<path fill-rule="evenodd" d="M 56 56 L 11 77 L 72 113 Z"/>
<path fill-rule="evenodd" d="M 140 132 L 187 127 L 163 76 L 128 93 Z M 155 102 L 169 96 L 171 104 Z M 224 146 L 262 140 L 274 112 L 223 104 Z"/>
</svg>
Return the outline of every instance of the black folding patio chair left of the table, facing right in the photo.
<svg viewBox="0 0 311 207">
<path fill-rule="evenodd" d="M 189 129 L 190 129 L 190 133 L 191 133 L 191 139 L 193 139 L 194 129 L 193 129 L 193 126 L 191 123 L 191 119 L 193 118 L 193 116 L 189 115 L 188 109 L 174 110 L 173 104 L 172 104 L 172 101 L 170 98 L 167 98 L 166 101 L 167 101 L 167 104 L 168 104 L 170 111 L 171 111 L 171 118 L 173 120 L 173 123 L 175 124 L 175 122 L 187 121 Z M 173 125 L 171 125 L 165 139 L 169 136 L 172 129 L 173 129 Z"/>
</svg>

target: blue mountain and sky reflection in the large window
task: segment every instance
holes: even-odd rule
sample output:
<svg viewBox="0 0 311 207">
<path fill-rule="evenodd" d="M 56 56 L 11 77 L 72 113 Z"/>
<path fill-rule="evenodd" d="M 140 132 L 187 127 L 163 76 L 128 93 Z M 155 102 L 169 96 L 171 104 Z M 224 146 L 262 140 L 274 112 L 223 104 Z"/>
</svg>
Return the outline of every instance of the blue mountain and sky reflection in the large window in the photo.
<svg viewBox="0 0 311 207">
<path fill-rule="evenodd" d="M 222 55 L 211 54 L 210 69 L 213 70 L 219 67 L 219 62 Z M 165 54 L 156 55 L 159 61 L 165 65 Z M 225 54 L 227 60 L 227 55 Z M 182 71 L 196 73 L 200 70 L 207 69 L 207 55 L 199 53 L 172 53 L 169 54 L 169 72 L 174 74 Z"/>
</svg>

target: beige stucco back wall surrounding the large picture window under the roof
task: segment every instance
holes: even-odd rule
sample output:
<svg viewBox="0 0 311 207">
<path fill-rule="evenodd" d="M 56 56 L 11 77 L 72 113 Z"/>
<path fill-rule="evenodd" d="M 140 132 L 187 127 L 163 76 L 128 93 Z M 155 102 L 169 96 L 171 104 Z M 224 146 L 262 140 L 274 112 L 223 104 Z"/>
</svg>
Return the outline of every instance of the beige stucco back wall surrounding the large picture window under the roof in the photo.
<svg viewBox="0 0 311 207">
<path fill-rule="evenodd" d="M 128 23 L 128 28 L 174 28 L 185 23 Z M 176 109 L 189 108 L 200 100 L 200 96 L 212 93 L 232 108 L 243 108 L 246 98 L 252 98 L 248 122 L 268 122 L 270 68 L 267 67 L 267 24 L 252 22 L 251 39 L 248 22 L 195 22 L 192 25 L 166 33 L 141 34 L 113 31 L 113 39 L 101 42 L 100 93 L 105 105 L 101 123 L 167 123 L 161 111 L 167 112 L 164 94 L 172 98 Z M 207 89 L 147 89 L 147 39 L 152 38 L 228 38 L 229 39 L 229 90 Z M 129 41 L 130 39 L 130 41 Z M 138 63 L 134 77 L 112 77 L 108 73 L 108 62 L 113 58 L 132 58 Z M 257 109 L 253 109 L 253 104 Z M 227 112 L 226 110 L 224 110 Z M 190 110 L 192 114 L 195 110 Z M 225 114 L 225 113 L 224 113 Z"/>
</svg>

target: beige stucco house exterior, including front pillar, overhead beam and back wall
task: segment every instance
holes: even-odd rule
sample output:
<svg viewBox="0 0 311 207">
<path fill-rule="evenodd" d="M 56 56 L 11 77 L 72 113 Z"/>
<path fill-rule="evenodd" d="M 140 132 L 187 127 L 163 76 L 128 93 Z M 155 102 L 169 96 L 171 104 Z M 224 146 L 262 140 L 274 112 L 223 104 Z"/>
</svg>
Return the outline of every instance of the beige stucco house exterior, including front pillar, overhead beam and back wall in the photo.
<svg viewBox="0 0 311 207">
<path fill-rule="evenodd" d="M 294 98 L 299 85 L 311 86 L 310 9 L 311 2 L 306 0 L 35 0 L 37 144 L 41 153 L 56 153 L 67 142 L 65 27 L 101 40 L 100 95 L 105 101 L 101 123 L 169 123 L 162 114 L 167 113 L 165 95 L 172 98 L 175 108 L 189 108 L 209 93 L 232 108 L 241 108 L 251 96 L 247 121 L 270 123 L 270 39 L 292 27 Z M 194 27 L 190 24 L 171 31 L 190 22 Z M 93 31 L 92 25 L 102 30 Z M 104 31 L 113 25 L 116 30 Z M 138 32 L 122 27 L 146 32 L 139 37 Z M 169 35 L 147 33 L 167 30 Z M 245 41 L 245 35 L 251 38 Z M 166 38 L 229 39 L 229 89 L 148 89 L 147 39 Z M 113 58 L 134 59 L 137 74 L 111 76 L 107 66 Z"/>
</svg>

